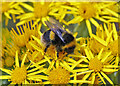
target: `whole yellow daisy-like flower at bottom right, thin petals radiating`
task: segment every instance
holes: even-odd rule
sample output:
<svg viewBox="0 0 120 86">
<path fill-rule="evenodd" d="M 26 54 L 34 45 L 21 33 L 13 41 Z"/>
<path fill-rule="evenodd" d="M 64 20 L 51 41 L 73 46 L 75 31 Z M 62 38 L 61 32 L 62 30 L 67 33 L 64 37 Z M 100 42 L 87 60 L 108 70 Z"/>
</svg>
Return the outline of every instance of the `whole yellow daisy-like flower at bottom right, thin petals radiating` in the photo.
<svg viewBox="0 0 120 86">
<path fill-rule="evenodd" d="M 94 55 L 88 47 L 85 49 L 85 53 L 86 58 L 83 61 L 80 59 L 71 66 L 71 69 L 78 67 L 73 70 L 77 72 L 77 76 L 84 74 L 82 80 L 87 80 L 91 77 L 91 84 L 95 84 L 96 76 L 100 77 L 103 84 L 106 84 L 104 79 L 113 84 L 107 73 L 118 71 L 119 57 L 114 57 L 111 52 L 103 52 L 103 48 L 98 55 Z"/>
</svg>

